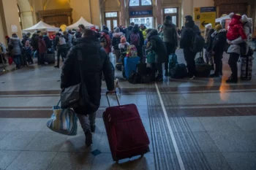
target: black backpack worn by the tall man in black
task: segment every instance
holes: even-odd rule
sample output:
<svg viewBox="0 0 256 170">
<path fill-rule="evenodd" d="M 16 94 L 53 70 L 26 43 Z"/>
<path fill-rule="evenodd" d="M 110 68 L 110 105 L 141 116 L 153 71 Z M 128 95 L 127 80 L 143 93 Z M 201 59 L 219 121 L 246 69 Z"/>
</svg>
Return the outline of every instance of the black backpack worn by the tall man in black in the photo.
<svg viewBox="0 0 256 170">
<path fill-rule="evenodd" d="M 198 53 L 203 51 L 203 47 L 205 45 L 205 39 L 203 39 L 203 36 L 201 34 L 197 34 L 193 29 L 191 29 L 193 32 L 192 36 L 192 42 L 190 50 L 194 53 Z"/>
</svg>

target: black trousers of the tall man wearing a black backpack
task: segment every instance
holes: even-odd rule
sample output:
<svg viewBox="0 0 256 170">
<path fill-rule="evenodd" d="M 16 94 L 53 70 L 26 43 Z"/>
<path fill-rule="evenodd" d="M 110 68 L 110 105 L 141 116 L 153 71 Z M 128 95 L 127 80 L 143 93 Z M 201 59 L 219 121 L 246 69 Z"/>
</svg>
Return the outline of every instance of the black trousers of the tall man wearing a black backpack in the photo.
<svg viewBox="0 0 256 170">
<path fill-rule="evenodd" d="M 197 53 L 193 53 L 189 49 L 184 49 L 183 52 L 184 58 L 187 62 L 187 70 L 189 72 L 189 76 L 196 76 L 197 71 L 195 68 L 195 55 L 197 55 Z"/>
</svg>

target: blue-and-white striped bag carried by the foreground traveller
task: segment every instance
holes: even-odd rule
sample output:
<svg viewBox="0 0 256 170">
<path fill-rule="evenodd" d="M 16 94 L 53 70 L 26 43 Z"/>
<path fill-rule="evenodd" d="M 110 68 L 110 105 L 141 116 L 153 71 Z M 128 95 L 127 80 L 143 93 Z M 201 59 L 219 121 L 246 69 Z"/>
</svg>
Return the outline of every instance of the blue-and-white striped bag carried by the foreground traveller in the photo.
<svg viewBox="0 0 256 170">
<path fill-rule="evenodd" d="M 78 117 L 72 109 L 61 109 L 59 103 L 53 107 L 53 115 L 46 125 L 59 134 L 75 136 L 78 134 Z"/>
</svg>

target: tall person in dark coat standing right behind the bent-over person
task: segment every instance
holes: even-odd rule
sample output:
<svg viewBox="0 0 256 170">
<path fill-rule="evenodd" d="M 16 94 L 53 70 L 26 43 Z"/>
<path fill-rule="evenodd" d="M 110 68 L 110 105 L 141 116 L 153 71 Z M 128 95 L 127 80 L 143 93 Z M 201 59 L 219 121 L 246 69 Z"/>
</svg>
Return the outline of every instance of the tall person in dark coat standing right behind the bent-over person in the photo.
<svg viewBox="0 0 256 170">
<path fill-rule="evenodd" d="M 178 47 L 178 34 L 176 31 L 176 25 L 173 24 L 172 18 L 168 15 L 164 24 L 162 25 L 163 42 L 167 49 L 167 56 L 165 57 L 165 76 L 169 76 L 169 55 L 176 52 Z"/>
</svg>

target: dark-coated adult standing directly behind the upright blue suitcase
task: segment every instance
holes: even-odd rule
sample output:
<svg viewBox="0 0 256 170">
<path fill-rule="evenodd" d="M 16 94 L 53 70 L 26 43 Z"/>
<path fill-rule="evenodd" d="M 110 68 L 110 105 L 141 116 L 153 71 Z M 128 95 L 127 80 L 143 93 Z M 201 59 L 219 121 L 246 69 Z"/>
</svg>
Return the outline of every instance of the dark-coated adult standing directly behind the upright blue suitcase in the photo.
<svg viewBox="0 0 256 170">
<path fill-rule="evenodd" d="M 142 32 L 140 31 L 138 24 L 135 24 L 135 26 L 132 28 L 131 34 L 132 33 L 139 34 L 139 36 L 140 36 L 140 43 L 139 43 L 139 45 L 135 45 L 135 47 L 137 48 L 137 52 L 138 52 L 138 56 L 140 57 L 140 61 L 143 61 L 144 38 L 143 38 Z M 131 36 L 128 37 L 127 42 L 129 42 L 129 44 L 132 45 Z"/>
</svg>

